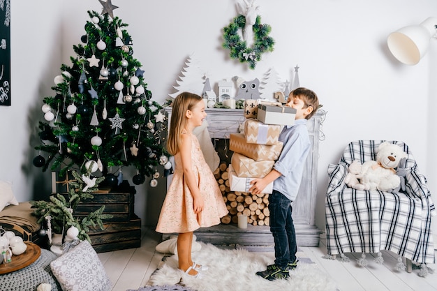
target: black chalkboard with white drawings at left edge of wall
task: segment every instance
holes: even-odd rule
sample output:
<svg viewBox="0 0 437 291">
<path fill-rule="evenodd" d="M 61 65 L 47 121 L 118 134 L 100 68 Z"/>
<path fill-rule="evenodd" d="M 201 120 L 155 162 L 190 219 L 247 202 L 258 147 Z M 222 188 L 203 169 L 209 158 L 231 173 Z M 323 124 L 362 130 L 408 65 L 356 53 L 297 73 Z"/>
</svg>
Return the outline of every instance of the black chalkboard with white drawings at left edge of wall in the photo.
<svg viewBox="0 0 437 291">
<path fill-rule="evenodd" d="M 10 106 L 10 0 L 0 0 L 0 105 Z"/>
</svg>

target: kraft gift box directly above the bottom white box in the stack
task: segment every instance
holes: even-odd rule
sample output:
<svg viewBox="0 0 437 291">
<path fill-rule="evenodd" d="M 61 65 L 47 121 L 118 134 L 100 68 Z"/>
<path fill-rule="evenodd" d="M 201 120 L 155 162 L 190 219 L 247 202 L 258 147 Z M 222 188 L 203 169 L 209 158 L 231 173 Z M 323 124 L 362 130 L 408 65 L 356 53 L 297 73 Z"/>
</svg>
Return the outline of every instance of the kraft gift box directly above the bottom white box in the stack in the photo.
<svg viewBox="0 0 437 291">
<path fill-rule="evenodd" d="M 255 161 L 253 158 L 234 153 L 230 164 L 238 177 L 263 178 L 272 170 L 274 161 Z"/>
</svg>

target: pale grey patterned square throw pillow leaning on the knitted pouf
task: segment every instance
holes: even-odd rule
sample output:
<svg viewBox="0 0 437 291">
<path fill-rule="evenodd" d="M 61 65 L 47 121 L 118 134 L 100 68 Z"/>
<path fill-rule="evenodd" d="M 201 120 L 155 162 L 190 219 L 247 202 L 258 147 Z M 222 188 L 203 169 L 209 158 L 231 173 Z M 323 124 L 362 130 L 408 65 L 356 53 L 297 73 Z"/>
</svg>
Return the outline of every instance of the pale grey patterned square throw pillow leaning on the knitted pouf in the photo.
<svg viewBox="0 0 437 291">
<path fill-rule="evenodd" d="M 89 241 L 81 241 L 50 263 L 64 291 L 109 291 L 112 283 Z"/>
</svg>

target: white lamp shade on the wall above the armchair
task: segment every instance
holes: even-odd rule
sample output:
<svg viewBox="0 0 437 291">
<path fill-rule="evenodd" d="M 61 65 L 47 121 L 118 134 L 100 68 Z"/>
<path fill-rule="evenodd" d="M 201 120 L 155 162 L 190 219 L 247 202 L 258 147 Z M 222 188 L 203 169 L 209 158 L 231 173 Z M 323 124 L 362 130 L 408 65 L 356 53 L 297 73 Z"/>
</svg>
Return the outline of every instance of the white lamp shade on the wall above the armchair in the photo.
<svg viewBox="0 0 437 291">
<path fill-rule="evenodd" d="M 407 65 L 415 65 L 427 53 L 429 40 L 436 33 L 436 17 L 428 17 L 420 25 L 403 27 L 390 33 L 387 45 L 399 61 Z"/>
</svg>

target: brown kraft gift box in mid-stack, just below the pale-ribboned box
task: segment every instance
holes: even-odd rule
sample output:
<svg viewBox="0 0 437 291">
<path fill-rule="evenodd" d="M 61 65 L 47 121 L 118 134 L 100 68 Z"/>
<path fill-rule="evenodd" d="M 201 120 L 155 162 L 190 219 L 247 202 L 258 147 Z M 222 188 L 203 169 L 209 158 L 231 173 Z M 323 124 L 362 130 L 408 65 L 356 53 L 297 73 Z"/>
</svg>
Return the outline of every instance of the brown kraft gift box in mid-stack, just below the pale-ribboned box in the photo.
<svg viewBox="0 0 437 291">
<path fill-rule="evenodd" d="M 281 154 L 282 142 L 276 144 L 249 144 L 242 133 L 231 133 L 229 135 L 229 149 L 235 153 L 242 154 L 255 161 L 276 161 Z"/>
</svg>

